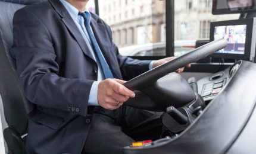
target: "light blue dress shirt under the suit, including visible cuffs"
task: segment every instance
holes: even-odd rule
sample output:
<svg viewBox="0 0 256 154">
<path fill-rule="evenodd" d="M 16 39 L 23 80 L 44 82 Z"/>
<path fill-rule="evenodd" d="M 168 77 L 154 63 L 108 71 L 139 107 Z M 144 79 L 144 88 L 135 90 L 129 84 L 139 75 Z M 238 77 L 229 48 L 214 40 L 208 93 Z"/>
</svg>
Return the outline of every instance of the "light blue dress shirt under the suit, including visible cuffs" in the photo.
<svg viewBox="0 0 256 154">
<path fill-rule="evenodd" d="M 64 5 L 65 9 L 67 9 L 68 13 L 70 14 L 71 18 L 74 20 L 74 23 L 76 23 L 77 28 L 79 29 L 80 33 L 83 36 L 83 39 L 85 40 L 85 43 L 87 44 L 90 53 L 92 53 L 92 56 L 94 60 L 96 61 L 95 54 L 92 49 L 92 43 L 90 42 L 90 37 L 86 31 L 85 24 L 84 24 L 84 19 L 82 16 L 78 15 L 79 10 L 70 3 L 68 3 L 65 0 L 60 0 L 60 2 Z M 83 12 L 89 12 L 87 9 Z M 89 12 L 90 14 L 90 12 Z M 90 27 L 91 28 L 91 27 Z M 104 57 L 104 56 L 103 56 Z M 154 60 L 149 64 L 149 69 L 152 69 Z M 102 72 L 101 67 L 98 66 L 98 79 L 97 81 L 93 82 L 92 88 L 90 88 L 90 94 L 89 94 L 89 100 L 88 100 L 88 105 L 99 105 L 98 104 L 98 85 L 99 82 L 104 79 L 104 75 Z"/>
</svg>

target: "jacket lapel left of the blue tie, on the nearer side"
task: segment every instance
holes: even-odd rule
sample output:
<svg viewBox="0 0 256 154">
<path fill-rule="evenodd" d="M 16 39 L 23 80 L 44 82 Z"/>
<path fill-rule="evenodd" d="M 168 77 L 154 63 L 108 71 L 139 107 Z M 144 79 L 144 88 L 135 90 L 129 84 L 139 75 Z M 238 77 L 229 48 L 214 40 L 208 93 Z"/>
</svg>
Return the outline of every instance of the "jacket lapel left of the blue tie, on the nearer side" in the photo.
<svg viewBox="0 0 256 154">
<path fill-rule="evenodd" d="M 61 4 L 60 1 L 57 0 L 49 0 L 51 3 L 52 7 L 58 12 L 58 14 L 61 17 L 61 21 L 65 24 L 67 27 L 68 31 L 73 35 L 74 39 L 76 39 L 77 43 L 81 47 L 83 53 L 86 54 L 86 56 L 89 56 L 93 61 L 95 59 L 92 56 L 92 53 L 90 53 L 90 50 L 88 46 L 85 43 L 85 40 L 83 39 L 82 34 L 80 33 L 79 29 L 77 28 L 76 24 L 68 14 L 67 10 L 65 7 Z"/>
</svg>

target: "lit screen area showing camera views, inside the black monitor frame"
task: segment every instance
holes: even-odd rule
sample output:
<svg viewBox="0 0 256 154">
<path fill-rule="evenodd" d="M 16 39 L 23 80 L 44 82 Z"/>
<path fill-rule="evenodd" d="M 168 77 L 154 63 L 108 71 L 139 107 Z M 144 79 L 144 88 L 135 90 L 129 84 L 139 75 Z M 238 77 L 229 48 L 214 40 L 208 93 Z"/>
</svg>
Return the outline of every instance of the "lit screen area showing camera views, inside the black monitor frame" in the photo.
<svg viewBox="0 0 256 154">
<path fill-rule="evenodd" d="M 227 46 L 217 53 L 244 54 L 246 25 L 224 25 L 214 28 L 214 40 L 226 39 Z"/>
</svg>

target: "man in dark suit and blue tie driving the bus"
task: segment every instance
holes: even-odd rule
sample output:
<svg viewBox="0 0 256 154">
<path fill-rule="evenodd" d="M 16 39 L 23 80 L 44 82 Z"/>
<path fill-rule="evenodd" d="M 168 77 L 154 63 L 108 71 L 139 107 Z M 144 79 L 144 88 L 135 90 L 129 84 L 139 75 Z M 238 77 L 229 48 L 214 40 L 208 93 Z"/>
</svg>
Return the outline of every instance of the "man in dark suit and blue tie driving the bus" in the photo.
<svg viewBox="0 0 256 154">
<path fill-rule="evenodd" d="M 122 84 L 173 57 L 121 56 L 87 2 L 49 0 L 14 15 L 11 54 L 32 105 L 27 153 L 121 153 L 139 134 L 161 133 L 158 114 L 123 105 L 135 93 Z"/>
</svg>

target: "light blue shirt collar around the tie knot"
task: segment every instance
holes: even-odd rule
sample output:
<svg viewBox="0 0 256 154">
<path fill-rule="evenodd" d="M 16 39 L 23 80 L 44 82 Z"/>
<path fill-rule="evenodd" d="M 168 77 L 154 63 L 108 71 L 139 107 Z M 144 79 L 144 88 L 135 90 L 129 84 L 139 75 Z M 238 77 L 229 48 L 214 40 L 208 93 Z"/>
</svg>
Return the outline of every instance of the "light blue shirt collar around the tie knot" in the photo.
<svg viewBox="0 0 256 154">
<path fill-rule="evenodd" d="M 79 10 L 75 8 L 73 5 L 71 5 L 69 2 L 65 0 L 60 0 L 60 2 L 64 5 L 65 9 L 67 9 L 68 13 L 70 14 L 71 18 L 76 21 Z M 87 17 L 89 17 L 89 22 L 90 22 L 90 12 L 86 8 L 85 11 L 82 11 L 86 14 Z"/>
</svg>

